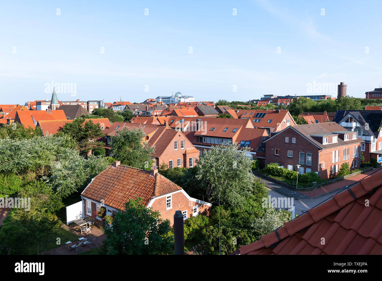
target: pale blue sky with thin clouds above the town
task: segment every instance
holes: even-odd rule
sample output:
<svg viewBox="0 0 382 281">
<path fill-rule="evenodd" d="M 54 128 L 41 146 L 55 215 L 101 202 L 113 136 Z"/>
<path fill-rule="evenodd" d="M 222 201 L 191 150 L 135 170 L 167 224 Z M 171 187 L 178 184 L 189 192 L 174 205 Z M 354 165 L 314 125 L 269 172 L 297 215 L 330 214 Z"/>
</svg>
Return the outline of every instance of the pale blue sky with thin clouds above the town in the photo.
<svg viewBox="0 0 382 281">
<path fill-rule="evenodd" d="M 50 99 L 52 81 L 76 85 L 62 101 L 105 102 L 248 101 L 313 82 L 364 97 L 382 83 L 377 1 L 158 2 L 2 0 L 0 104 Z"/>
</svg>

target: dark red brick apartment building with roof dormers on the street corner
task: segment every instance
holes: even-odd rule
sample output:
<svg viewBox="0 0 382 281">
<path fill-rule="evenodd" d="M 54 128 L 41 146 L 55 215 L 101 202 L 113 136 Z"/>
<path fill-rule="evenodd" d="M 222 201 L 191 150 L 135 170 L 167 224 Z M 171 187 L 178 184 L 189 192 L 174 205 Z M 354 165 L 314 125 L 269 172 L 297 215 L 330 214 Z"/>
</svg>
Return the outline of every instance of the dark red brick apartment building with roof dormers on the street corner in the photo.
<svg viewBox="0 0 382 281">
<path fill-rule="evenodd" d="M 300 174 L 316 172 L 328 179 L 345 162 L 351 170 L 359 168 L 363 142 L 357 132 L 335 122 L 296 125 L 265 140 L 265 164 L 278 163 L 290 170 L 299 164 Z"/>
</svg>

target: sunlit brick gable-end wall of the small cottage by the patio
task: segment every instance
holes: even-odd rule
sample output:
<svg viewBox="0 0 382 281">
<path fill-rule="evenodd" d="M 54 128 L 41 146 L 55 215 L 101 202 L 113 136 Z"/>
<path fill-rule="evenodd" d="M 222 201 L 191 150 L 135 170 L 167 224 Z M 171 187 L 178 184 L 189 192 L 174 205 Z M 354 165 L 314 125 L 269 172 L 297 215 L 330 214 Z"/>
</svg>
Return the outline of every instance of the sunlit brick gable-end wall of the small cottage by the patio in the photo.
<svg viewBox="0 0 382 281">
<path fill-rule="evenodd" d="M 194 201 L 189 201 L 187 197 L 185 197 L 185 195 L 183 195 L 183 193 L 181 192 L 176 192 L 172 194 L 172 208 L 169 210 L 166 210 L 166 200 L 167 196 L 155 199 L 151 208 L 153 208 L 155 211 L 160 211 L 160 218 L 169 219 L 171 226 L 173 226 L 174 224 L 174 214 L 176 210 L 180 210 L 182 212 L 187 210 L 188 218 L 192 216 L 193 206 L 196 205 L 199 206 L 199 214 L 209 216 L 211 211 L 210 206 L 202 205 Z"/>
</svg>

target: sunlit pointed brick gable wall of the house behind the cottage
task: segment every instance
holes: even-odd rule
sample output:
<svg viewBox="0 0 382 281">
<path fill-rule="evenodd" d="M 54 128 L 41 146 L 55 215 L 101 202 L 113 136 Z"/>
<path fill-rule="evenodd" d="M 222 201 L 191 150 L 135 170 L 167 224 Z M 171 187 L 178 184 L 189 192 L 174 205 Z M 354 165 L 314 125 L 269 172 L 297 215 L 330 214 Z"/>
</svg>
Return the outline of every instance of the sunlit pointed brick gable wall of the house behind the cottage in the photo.
<svg viewBox="0 0 382 281">
<path fill-rule="evenodd" d="M 179 136 L 180 135 L 180 136 Z M 174 141 L 178 141 L 178 150 L 174 150 Z M 181 149 L 180 148 L 180 141 L 184 140 L 185 141 L 185 148 Z M 189 148 L 195 148 L 194 145 L 186 138 L 185 135 L 183 135 L 182 132 L 178 132 L 173 140 L 170 142 L 170 145 L 167 146 L 165 151 L 163 151 L 162 155 L 159 157 L 159 166 L 162 165 L 163 162 L 165 162 L 168 165 L 168 162 L 170 160 L 173 161 L 173 167 L 178 166 L 178 158 L 182 159 L 182 164 L 181 167 L 189 167 L 188 163 L 188 158 L 193 157 L 194 158 L 194 166 L 196 165 L 196 159 L 199 159 L 199 153 L 192 153 L 192 154 L 187 154 L 191 156 L 187 156 L 187 161 L 185 161 L 185 157 L 183 153 L 185 153 L 186 149 Z"/>
</svg>

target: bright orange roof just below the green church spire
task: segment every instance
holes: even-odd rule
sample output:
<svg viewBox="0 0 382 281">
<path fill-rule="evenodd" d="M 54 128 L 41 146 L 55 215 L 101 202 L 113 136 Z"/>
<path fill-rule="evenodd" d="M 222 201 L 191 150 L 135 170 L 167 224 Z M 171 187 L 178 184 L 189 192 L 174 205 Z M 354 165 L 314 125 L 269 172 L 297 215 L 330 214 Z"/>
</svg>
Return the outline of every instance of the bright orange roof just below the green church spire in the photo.
<svg viewBox="0 0 382 281">
<path fill-rule="evenodd" d="M 11 113 L 10 113 L 11 114 Z M 19 117 L 20 123 L 25 127 L 35 127 L 34 120 L 65 120 L 64 110 L 52 110 L 52 112 L 46 112 L 44 110 L 18 110 L 16 116 Z"/>
</svg>

